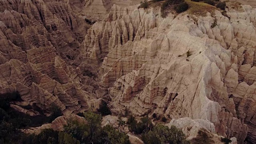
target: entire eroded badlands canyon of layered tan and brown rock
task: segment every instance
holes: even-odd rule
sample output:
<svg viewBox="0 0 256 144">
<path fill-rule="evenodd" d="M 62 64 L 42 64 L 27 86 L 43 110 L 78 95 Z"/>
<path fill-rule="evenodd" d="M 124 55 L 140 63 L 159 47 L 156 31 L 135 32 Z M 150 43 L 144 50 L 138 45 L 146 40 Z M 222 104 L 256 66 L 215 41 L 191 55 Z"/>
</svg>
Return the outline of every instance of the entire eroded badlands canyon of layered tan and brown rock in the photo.
<svg viewBox="0 0 256 144">
<path fill-rule="evenodd" d="M 60 107 L 31 133 L 83 122 L 75 114 L 105 100 L 105 123 L 128 108 L 165 116 L 188 140 L 203 128 L 212 144 L 256 144 L 256 1 L 186 1 L 162 16 L 161 2 L 0 0 L 0 94 L 18 92 L 10 107 L 30 116 Z"/>
</svg>

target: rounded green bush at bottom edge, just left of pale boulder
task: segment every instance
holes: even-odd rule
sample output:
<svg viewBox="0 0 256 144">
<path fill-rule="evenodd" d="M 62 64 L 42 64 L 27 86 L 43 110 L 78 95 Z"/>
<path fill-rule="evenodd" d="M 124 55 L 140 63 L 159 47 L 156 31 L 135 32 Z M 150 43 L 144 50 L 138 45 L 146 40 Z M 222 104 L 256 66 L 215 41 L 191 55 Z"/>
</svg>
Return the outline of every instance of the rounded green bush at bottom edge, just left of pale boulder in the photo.
<svg viewBox="0 0 256 144">
<path fill-rule="evenodd" d="M 185 134 L 175 126 L 156 125 L 152 131 L 142 134 L 144 144 L 190 144 Z"/>
</svg>

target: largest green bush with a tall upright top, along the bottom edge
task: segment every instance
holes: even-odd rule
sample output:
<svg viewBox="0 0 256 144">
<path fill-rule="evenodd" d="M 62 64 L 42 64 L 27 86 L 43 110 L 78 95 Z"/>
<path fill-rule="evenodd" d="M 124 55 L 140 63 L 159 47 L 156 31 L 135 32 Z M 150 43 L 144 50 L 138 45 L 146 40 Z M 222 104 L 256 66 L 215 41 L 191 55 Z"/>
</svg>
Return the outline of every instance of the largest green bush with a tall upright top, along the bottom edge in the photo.
<svg viewBox="0 0 256 144">
<path fill-rule="evenodd" d="M 68 122 L 64 131 L 59 133 L 60 144 L 129 144 L 129 138 L 110 125 L 101 127 L 101 115 L 84 113 L 88 123 Z M 69 142 L 69 143 L 68 143 Z"/>
</svg>

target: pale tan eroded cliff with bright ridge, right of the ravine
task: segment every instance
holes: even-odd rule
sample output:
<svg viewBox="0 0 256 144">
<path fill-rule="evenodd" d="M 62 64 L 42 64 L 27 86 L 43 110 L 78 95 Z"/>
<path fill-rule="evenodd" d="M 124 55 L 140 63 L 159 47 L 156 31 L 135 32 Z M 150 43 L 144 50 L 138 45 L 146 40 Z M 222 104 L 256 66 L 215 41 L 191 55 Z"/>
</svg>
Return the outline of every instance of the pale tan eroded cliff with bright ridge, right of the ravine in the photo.
<svg viewBox="0 0 256 144">
<path fill-rule="evenodd" d="M 256 10 L 231 4 L 225 16 L 216 10 L 167 18 L 113 6 L 88 30 L 77 62 L 101 65 L 99 85 L 113 110 L 203 119 L 222 136 L 255 143 Z"/>
</svg>

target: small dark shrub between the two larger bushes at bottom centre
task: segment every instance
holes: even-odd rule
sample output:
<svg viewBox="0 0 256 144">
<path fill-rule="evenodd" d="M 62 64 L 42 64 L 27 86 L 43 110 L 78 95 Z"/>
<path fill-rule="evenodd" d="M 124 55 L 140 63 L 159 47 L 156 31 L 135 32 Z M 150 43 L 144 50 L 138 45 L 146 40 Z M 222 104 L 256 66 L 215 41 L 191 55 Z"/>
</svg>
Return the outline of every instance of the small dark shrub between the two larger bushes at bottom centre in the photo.
<svg viewBox="0 0 256 144">
<path fill-rule="evenodd" d="M 153 128 L 153 124 L 148 117 L 143 117 L 140 119 L 140 122 L 137 122 L 133 116 L 128 118 L 126 122 L 129 124 L 129 130 L 135 134 L 141 134 L 142 132 L 148 132 Z"/>
</svg>

